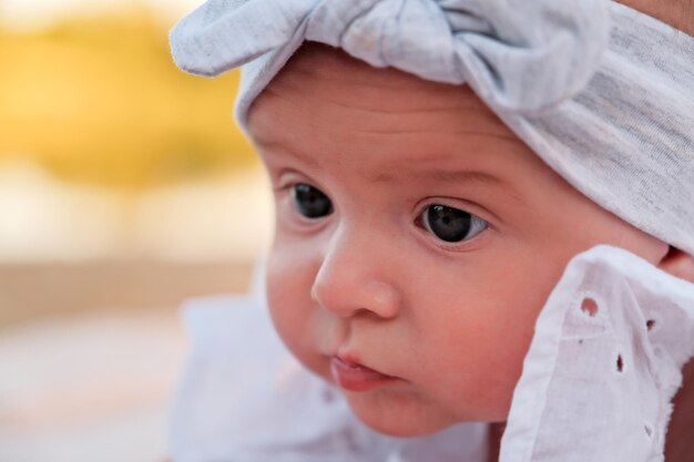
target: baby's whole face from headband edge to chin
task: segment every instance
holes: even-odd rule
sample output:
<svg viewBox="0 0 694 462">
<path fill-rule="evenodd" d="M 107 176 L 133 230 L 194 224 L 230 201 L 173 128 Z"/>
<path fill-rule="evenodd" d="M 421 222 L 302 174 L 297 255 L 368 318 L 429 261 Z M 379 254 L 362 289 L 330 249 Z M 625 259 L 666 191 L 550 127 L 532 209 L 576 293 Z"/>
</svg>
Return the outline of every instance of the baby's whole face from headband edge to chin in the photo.
<svg viewBox="0 0 694 462">
<path fill-rule="evenodd" d="M 655 258 L 467 86 L 306 45 L 249 132 L 275 189 L 275 326 L 385 433 L 504 420 L 568 260 L 599 243 Z"/>
</svg>

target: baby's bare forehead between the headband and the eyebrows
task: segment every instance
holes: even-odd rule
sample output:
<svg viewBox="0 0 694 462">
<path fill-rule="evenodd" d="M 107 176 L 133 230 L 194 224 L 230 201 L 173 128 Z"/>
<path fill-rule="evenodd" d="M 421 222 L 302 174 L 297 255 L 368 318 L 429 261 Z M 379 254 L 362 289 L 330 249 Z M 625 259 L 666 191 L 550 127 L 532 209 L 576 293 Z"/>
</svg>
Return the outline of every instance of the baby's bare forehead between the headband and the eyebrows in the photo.
<svg viewBox="0 0 694 462">
<path fill-rule="evenodd" d="M 323 44 L 295 53 L 248 122 L 269 164 L 298 158 L 326 172 L 345 165 L 341 155 L 359 157 L 340 176 L 353 172 L 379 184 L 489 183 L 516 176 L 519 168 L 510 166 L 520 164 L 549 172 L 468 85 L 372 68 Z"/>
</svg>

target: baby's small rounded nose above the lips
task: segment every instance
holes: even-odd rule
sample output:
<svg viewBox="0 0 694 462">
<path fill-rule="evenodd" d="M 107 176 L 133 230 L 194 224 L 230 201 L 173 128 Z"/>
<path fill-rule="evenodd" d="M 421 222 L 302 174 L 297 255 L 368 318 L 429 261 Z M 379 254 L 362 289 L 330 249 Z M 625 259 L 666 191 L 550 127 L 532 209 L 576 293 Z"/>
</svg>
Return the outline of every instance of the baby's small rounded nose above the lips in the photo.
<svg viewBox="0 0 694 462">
<path fill-rule="evenodd" d="M 402 296 L 392 280 L 396 268 L 389 268 L 387 246 L 370 237 L 343 233 L 330 240 L 310 292 L 320 307 L 339 317 L 398 315 Z"/>
</svg>

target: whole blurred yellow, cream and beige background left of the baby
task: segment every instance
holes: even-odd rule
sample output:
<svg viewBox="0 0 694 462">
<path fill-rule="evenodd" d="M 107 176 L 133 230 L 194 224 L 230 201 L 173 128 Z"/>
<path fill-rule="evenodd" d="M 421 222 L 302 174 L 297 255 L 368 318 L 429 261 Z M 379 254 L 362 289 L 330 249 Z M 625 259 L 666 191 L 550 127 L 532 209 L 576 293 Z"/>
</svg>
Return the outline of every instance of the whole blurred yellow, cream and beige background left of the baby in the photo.
<svg viewBox="0 0 694 462">
<path fill-rule="evenodd" d="M 177 307 L 267 245 L 238 75 L 169 55 L 201 2 L 0 0 L 0 462 L 163 460 Z"/>
</svg>

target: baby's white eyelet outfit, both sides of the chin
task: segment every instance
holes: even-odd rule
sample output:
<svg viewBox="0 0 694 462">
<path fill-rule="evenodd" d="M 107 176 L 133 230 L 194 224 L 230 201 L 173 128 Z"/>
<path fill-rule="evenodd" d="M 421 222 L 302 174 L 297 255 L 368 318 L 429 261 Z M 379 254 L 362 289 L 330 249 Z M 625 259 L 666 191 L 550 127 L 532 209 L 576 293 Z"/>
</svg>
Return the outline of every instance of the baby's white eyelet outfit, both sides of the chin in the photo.
<svg viewBox="0 0 694 462">
<path fill-rule="evenodd" d="M 486 461 L 483 423 L 411 440 L 365 428 L 292 359 L 254 292 L 185 308 L 193 349 L 172 411 L 175 462 Z M 692 355 L 694 285 L 612 247 L 575 257 L 538 318 L 500 461 L 662 461 Z"/>
</svg>

